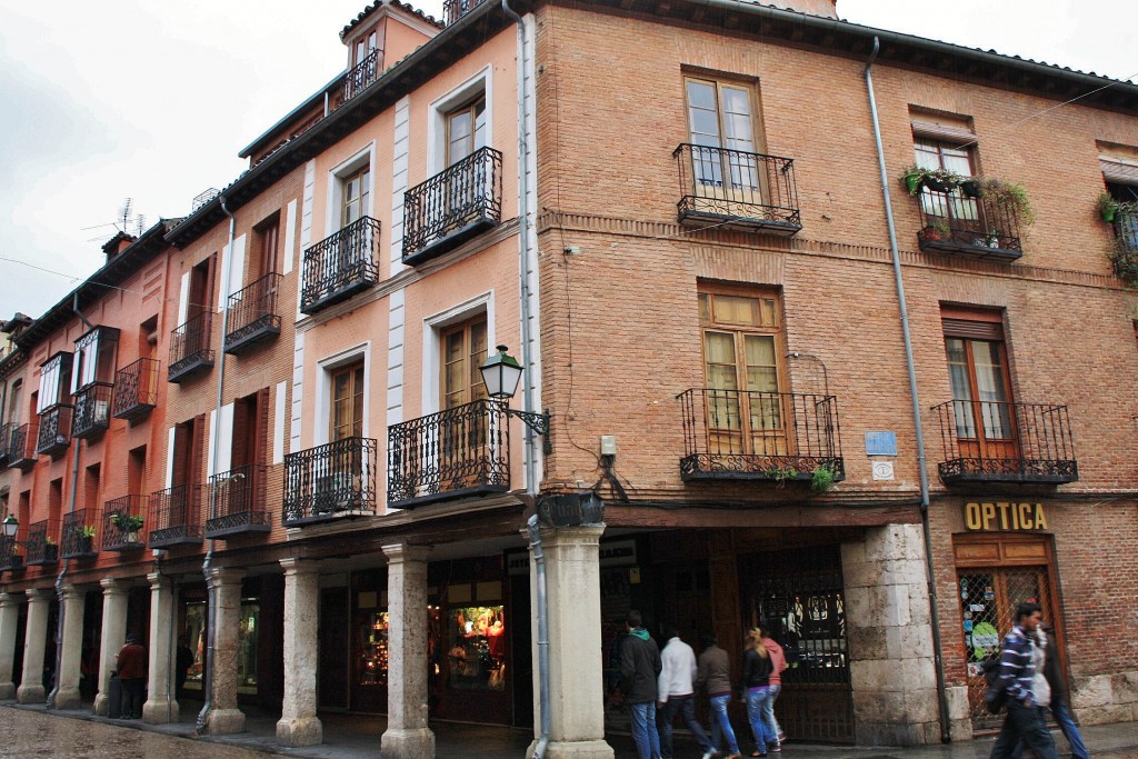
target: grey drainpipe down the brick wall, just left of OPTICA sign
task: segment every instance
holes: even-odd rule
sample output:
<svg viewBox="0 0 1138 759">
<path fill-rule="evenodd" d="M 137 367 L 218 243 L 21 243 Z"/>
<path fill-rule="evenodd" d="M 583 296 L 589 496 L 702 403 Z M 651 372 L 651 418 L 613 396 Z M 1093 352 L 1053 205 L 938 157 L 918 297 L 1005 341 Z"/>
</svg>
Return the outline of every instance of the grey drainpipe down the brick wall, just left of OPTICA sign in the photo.
<svg viewBox="0 0 1138 759">
<path fill-rule="evenodd" d="M 877 145 L 877 167 L 881 170 L 881 191 L 885 200 L 885 222 L 889 225 L 889 247 L 893 255 L 893 279 L 897 300 L 901 310 L 901 335 L 905 338 L 905 363 L 909 373 L 909 397 L 913 401 L 913 428 L 916 430 L 917 470 L 921 473 L 921 527 L 924 535 L 925 574 L 929 583 L 930 622 L 932 624 L 933 666 L 937 670 L 937 704 L 940 708 L 940 741 L 953 740 L 949 729 L 948 694 L 945 692 L 945 661 L 941 658 L 940 612 L 938 611 L 937 576 L 932 562 L 932 531 L 929 526 L 929 473 L 925 470 L 924 431 L 921 428 L 921 399 L 917 397 L 917 371 L 913 362 L 913 340 L 909 335 L 909 311 L 905 304 L 905 282 L 901 278 L 901 254 L 897 247 L 897 228 L 893 224 L 893 204 L 889 196 L 889 173 L 885 171 L 885 149 L 881 143 L 881 123 L 877 121 L 877 100 L 873 93 L 873 61 L 881 52 L 881 40 L 873 38 L 873 52 L 865 64 L 865 86 L 869 94 L 873 115 L 873 139 Z"/>
</svg>

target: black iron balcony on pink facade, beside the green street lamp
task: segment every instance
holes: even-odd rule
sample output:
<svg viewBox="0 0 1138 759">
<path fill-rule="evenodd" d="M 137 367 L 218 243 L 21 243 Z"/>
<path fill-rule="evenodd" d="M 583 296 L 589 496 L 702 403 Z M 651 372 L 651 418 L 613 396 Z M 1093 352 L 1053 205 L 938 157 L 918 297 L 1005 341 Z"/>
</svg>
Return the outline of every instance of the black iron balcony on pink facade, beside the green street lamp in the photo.
<svg viewBox="0 0 1138 759">
<path fill-rule="evenodd" d="M 476 401 L 387 428 L 387 505 L 414 509 L 510 489 L 505 405 Z"/>
</svg>

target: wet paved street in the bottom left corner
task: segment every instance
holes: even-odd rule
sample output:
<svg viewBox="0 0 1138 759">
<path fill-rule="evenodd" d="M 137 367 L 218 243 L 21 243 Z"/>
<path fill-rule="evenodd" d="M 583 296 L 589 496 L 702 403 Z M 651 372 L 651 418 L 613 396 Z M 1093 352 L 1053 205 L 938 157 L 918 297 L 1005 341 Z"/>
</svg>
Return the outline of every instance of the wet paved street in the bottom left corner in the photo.
<svg viewBox="0 0 1138 759">
<path fill-rule="evenodd" d="M 19 759 L 264 759 L 264 753 L 198 742 L 133 727 L 67 719 L 22 709 L 5 709 L 0 719 L 0 757 Z"/>
</svg>

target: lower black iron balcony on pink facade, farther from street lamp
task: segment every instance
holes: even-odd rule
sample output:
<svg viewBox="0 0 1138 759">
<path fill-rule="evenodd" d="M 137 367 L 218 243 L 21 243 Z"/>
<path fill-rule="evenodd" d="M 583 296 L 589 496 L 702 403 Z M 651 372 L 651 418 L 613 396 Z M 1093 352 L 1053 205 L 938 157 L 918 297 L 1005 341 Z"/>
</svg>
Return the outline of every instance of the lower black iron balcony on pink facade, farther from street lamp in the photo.
<svg viewBox="0 0 1138 759">
<path fill-rule="evenodd" d="M 284 456 L 284 526 L 374 515 L 377 448 L 348 437 Z"/>
</svg>

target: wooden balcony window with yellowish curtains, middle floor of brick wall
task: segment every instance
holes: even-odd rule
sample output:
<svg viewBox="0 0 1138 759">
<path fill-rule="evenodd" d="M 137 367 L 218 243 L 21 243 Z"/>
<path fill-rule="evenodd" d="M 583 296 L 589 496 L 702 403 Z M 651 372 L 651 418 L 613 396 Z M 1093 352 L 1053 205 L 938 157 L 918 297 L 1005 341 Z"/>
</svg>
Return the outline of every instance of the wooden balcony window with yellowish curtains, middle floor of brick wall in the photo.
<svg viewBox="0 0 1138 759">
<path fill-rule="evenodd" d="M 709 290 L 700 292 L 699 306 L 710 453 L 790 453 L 777 295 Z"/>
</svg>

